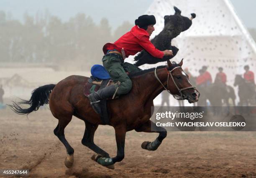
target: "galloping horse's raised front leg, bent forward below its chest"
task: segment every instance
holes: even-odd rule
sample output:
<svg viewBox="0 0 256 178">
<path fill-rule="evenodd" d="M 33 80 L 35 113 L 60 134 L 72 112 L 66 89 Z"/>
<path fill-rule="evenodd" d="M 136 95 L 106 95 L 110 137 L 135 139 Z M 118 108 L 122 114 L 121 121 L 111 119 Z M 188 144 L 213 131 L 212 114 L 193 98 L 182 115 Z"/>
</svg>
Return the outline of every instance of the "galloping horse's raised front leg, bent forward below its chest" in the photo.
<svg viewBox="0 0 256 178">
<path fill-rule="evenodd" d="M 154 151 L 161 145 L 164 138 L 166 138 L 167 131 L 166 131 L 165 128 L 161 128 L 160 131 L 152 131 L 151 127 L 156 128 L 156 124 L 153 123 L 151 120 L 148 120 L 148 122 L 144 123 L 143 125 L 141 125 L 141 127 L 136 128 L 135 130 L 136 130 L 136 132 L 155 132 L 155 133 L 159 133 L 159 136 L 153 142 L 144 141 L 141 144 L 141 148 L 146 149 L 146 150 L 150 150 L 150 151 Z"/>
</svg>

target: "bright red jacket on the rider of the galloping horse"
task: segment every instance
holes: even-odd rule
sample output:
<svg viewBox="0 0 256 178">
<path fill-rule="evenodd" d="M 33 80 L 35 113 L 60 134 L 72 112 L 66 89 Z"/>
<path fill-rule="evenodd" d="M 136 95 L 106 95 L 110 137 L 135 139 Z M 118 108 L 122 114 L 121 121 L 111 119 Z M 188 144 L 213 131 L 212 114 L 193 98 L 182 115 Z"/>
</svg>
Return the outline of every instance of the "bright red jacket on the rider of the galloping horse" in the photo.
<svg viewBox="0 0 256 178">
<path fill-rule="evenodd" d="M 164 53 L 156 49 L 156 47 L 150 42 L 149 35 L 146 30 L 139 28 L 135 25 L 130 32 L 125 33 L 115 43 L 107 43 L 103 46 L 103 53 L 106 54 L 108 50 L 125 50 L 125 56 L 135 55 L 141 50 L 146 50 L 149 54 L 155 58 L 163 58 Z"/>
</svg>

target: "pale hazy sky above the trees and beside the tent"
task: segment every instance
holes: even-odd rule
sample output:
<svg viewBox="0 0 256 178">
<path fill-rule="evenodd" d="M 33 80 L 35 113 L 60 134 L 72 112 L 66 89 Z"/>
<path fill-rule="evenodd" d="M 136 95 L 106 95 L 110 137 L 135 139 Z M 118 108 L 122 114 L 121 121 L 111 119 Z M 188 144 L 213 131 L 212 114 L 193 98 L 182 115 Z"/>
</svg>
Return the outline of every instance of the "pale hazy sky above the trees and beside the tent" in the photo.
<svg viewBox="0 0 256 178">
<path fill-rule="evenodd" d="M 256 28 L 256 0 L 230 0 L 239 17 L 248 28 Z M 10 12 L 13 19 L 23 20 L 23 14 L 44 14 L 49 10 L 63 21 L 77 13 L 90 15 L 95 23 L 108 18 L 113 29 L 128 20 L 134 20 L 146 12 L 153 0 L 0 0 L 0 10 Z"/>
</svg>

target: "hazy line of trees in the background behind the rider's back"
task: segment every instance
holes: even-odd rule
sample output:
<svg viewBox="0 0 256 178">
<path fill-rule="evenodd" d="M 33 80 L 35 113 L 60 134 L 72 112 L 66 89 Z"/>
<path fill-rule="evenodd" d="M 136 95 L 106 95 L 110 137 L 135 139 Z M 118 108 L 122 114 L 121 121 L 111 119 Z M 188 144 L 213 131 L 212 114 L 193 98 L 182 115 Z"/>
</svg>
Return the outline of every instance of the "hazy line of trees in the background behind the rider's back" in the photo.
<svg viewBox="0 0 256 178">
<path fill-rule="evenodd" d="M 0 62 L 53 63 L 89 69 L 101 63 L 105 43 L 114 42 L 132 27 L 125 21 L 112 32 L 106 18 L 97 25 L 83 13 L 67 22 L 49 13 L 44 17 L 24 14 L 21 23 L 0 11 Z"/>
</svg>

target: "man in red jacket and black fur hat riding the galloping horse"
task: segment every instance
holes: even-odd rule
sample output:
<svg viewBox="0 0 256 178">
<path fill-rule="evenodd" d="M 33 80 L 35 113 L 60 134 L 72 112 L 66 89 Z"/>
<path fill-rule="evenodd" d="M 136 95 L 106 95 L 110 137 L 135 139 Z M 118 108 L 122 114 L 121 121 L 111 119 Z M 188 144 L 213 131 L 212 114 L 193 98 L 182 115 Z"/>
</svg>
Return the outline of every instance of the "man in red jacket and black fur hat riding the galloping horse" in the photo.
<svg viewBox="0 0 256 178">
<path fill-rule="evenodd" d="M 97 104 L 100 100 L 110 98 L 114 93 L 123 95 L 131 90 L 131 79 L 123 69 L 126 57 L 135 55 L 143 49 L 156 58 L 173 55 L 172 50 L 160 51 L 149 41 L 149 36 L 155 30 L 155 24 L 156 18 L 154 15 L 141 15 L 135 20 L 135 26 L 130 32 L 125 33 L 115 43 L 107 43 L 103 46 L 105 55 L 102 58 L 102 63 L 115 85 L 110 85 L 88 95 L 90 103 L 95 110 L 100 110 L 100 106 Z"/>
</svg>

